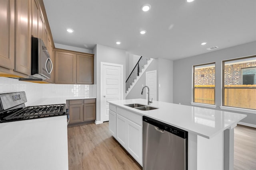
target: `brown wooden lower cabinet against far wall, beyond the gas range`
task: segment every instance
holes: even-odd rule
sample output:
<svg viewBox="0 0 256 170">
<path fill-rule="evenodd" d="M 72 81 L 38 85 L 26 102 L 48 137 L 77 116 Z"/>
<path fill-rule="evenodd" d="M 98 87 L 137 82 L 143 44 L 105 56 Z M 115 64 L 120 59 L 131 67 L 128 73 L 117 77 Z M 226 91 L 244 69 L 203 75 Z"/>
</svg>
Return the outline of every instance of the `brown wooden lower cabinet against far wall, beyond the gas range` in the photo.
<svg viewBox="0 0 256 170">
<path fill-rule="evenodd" d="M 70 121 L 68 126 L 93 123 L 96 117 L 96 99 L 67 100 Z"/>
</svg>

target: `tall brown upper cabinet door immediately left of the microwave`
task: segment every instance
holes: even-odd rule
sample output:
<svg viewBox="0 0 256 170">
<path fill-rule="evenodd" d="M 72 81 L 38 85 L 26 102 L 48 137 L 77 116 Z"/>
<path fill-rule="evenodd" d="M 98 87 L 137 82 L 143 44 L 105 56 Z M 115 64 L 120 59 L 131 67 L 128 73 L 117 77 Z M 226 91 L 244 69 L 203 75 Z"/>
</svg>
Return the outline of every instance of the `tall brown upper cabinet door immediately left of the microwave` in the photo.
<svg viewBox="0 0 256 170">
<path fill-rule="evenodd" d="M 16 0 L 16 64 L 14 70 L 31 74 L 31 0 Z"/>
</svg>

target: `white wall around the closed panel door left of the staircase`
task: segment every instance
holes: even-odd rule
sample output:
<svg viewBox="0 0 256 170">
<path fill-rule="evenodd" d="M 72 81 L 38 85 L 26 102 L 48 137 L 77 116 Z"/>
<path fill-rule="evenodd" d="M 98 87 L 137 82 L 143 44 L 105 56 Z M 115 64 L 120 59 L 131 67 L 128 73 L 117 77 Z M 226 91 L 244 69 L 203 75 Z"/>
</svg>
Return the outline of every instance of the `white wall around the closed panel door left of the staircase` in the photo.
<svg viewBox="0 0 256 170">
<path fill-rule="evenodd" d="M 94 68 L 96 66 L 96 71 L 94 72 L 94 77 L 96 76 L 97 83 L 97 100 L 96 100 L 96 121 L 100 120 L 100 62 L 106 63 L 114 63 L 114 64 L 122 64 L 123 67 L 123 75 L 125 76 L 126 72 L 126 51 L 115 49 L 112 47 L 107 47 L 104 45 L 96 45 L 93 49 L 94 51 Z M 94 69 L 95 70 L 95 69 Z M 125 77 L 124 77 L 125 79 Z M 125 80 L 124 80 L 125 81 Z M 124 88 L 125 90 L 125 82 Z M 125 94 L 125 91 L 123 91 Z M 125 96 L 125 95 L 124 95 Z"/>
</svg>

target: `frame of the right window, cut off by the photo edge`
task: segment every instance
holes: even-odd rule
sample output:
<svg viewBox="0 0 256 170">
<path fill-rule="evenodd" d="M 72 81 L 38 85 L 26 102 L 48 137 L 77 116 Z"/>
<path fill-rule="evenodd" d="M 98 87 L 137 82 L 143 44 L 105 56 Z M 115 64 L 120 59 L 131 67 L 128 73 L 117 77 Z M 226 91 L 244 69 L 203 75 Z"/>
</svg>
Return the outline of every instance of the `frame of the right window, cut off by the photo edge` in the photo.
<svg viewBox="0 0 256 170">
<path fill-rule="evenodd" d="M 229 62 L 229 61 L 236 61 L 236 60 L 241 60 L 241 59 L 250 59 L 250 58 L 255 58 L 256 55 L 252 55 L 252 56 L 247 56 L 247 57 L 239 57 L 236 59 L 229 59 L 229 60 L 223 60 L 222 61 L 222 106 L 220 106 L 221 109 L 230 109 L 233 111 L 248 111 L 248 113 L 251 113 L 251 111 L 256 111 L 256 109 L 251 109 L 251 108 L 244 108 L 244 107 L 235 107 L 235 106 L 226 106 L 225 104 L 225 89 L 256 89 L 256 87 L 251 86 L 251 87 L 225 87 L 225 62 Z M 249 67 L 248 67 L 249 68 Z M 242 68 L 241 68 L 242 69 Z M 241 70 L 241 74 L 242 74 L 242 70 Z M 241 75 L 242 76 L 242 75 Z M 242 80 L 242 77 L 241 77 Z"/>
</svg>

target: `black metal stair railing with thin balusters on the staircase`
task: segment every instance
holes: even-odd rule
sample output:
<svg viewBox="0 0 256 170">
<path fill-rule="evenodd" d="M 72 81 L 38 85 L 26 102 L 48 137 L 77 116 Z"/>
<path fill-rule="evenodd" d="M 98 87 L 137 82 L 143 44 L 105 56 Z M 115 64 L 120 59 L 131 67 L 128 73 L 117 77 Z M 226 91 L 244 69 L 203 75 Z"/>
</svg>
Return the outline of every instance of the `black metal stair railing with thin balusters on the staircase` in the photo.
<svg viewBox="0 0 256 170">
<path fill-rule="evenodd" d="M 136 80 L 137 76 L 140 75 L 140 72 L 142 72 L 144 65 L 148 64 L 149 60 L 150 60 L 150 58 L 148 58 L 148 57 L 142 57 L 142 56 L 140 57 L 139 61 L 134 66 L 132 72 L 130 73 L 130 75 L 128 76 L 128 78 L 125 82 L 126 92 L 128 91 L 128 88 L 130 88 L 130 86 L 132 85 L 134 80 Z"/>
</svg>

